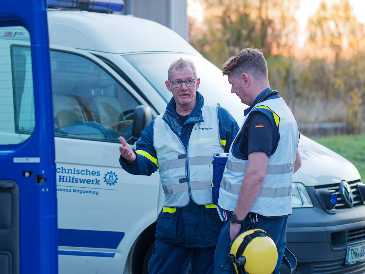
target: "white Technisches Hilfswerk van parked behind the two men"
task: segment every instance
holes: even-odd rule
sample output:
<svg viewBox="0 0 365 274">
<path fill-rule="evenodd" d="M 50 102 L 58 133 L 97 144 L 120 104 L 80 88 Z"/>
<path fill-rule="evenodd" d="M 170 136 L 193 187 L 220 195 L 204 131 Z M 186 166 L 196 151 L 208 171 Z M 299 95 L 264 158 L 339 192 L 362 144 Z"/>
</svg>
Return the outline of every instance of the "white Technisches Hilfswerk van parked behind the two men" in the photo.
<svg viewBox="0 0 365 274">
<path fill-rule="evenodd" d="M 206 102 L 220 103 L 239 125 L 245 107 L 230 93 L 220 69 L 160 24 L 61 9 L 49 9 L 48 23 L 59 273 L 147 273 L 164 192 L 158 172 L 137 176 L 120 167 L 117 137 L 133 144 L 144 126 L 164 112 L 171 98 L 165 86 L 168 67 L 179 57 L 195 63 Z M 0 128 L 6 128 L 1 143 L 19 143 L 34 128 L 27 38 L 23 28 L 0 28 L 5 45 L 0 66 L 12 72 L 0 73 L 0 112 L 7 113 L 0 120 Z M 298 259 L 297 273 L 364 273 L 360 174 L 306 136 L 301 135 L 299 150 L 302 167 L 293 179 L 287 235 Z"/>
</svg>

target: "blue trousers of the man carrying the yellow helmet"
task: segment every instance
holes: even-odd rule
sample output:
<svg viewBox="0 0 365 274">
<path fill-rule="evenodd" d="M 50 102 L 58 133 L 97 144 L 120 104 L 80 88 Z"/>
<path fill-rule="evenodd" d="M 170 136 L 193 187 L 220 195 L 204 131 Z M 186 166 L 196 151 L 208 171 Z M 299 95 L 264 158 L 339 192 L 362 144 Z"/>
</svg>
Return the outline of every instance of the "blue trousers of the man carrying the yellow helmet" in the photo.
<svg viewBox="0 0 365 274">
<path fill-rule="evenodd" d="M 257 228 L 263 229 L 273 239 L 278 251 L 277 264 L 274 270 L 274 274 L 280 274 L 279 269 L 281 262 L 283 261 L 285 246 L 287 244 L 287 223 L 288 216 L 284 217 L 264 217 L 257 215 Z M 227 254 L 231 249 L 231 237 L 229 234 L 230 220 L 228 219 L 220 231 L 216 251 L 214 254 L 214 274 L 229 274 L 236 273 L 232 263 L 228 262 Z M 241 231 L 245 232 L 251 229 L 251 221 L 247 216 L 241 225 Z"/>
</svg>

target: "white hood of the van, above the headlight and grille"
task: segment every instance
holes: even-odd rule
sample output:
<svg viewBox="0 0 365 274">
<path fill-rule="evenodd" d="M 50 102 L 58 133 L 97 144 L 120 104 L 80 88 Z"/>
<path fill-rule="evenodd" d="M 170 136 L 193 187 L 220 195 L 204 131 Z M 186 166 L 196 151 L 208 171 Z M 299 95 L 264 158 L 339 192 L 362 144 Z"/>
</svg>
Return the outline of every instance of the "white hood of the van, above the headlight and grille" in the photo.
<svg viewBox="0 0 365 274">
<path fill-rule="evenodd" d="M 360 174 L 352 163 L 302 134 L 298 148 L 302 165 L 294 174 L 293 182 L 316 186 L 360 179 Z"/>
</svg>

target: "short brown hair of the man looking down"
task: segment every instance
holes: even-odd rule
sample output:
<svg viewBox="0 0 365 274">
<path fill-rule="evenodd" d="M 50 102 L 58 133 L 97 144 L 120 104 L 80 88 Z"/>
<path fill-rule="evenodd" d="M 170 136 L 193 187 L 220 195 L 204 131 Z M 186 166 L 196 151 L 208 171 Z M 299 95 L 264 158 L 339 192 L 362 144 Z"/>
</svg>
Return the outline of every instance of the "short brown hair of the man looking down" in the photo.
<svg viewBox="0 0 365 274">
<path fill-rule="evenodd" d="M 243 49 L 224 62 L 222 72 L 223 75 L 233 74 L 235 77 L 247 73 L 256 79 L 268 78 L 268 65 L 261 50 Z"/>
</svg>

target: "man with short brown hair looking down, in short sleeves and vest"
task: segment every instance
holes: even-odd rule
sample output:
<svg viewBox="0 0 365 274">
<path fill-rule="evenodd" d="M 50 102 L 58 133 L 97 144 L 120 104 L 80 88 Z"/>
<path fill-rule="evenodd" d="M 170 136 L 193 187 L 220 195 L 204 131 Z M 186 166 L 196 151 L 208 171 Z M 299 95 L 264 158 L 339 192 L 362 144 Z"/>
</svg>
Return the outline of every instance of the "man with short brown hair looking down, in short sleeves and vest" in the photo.
<svg viewBox="0 0 365 274">
<path fill-rule="evenodd" d="M 231 93 L 250 107 L 231 144 L 220 182 L 218 205 L 229 219 L 219 236 L 214 273 L 236 273 L 227 259 L 229 239 L 232 242 L 257 220 L 257 228 L 266 231 L 276 244 L 274 273 L 278 274 L 291 214 L 293 173 L 301 166 L 298 127 L 287 104 L 270 88 L 268 67 L 260 50 L 241 50 L 224 63 L 223 74 L 232 85 Z"/>
</svg>

